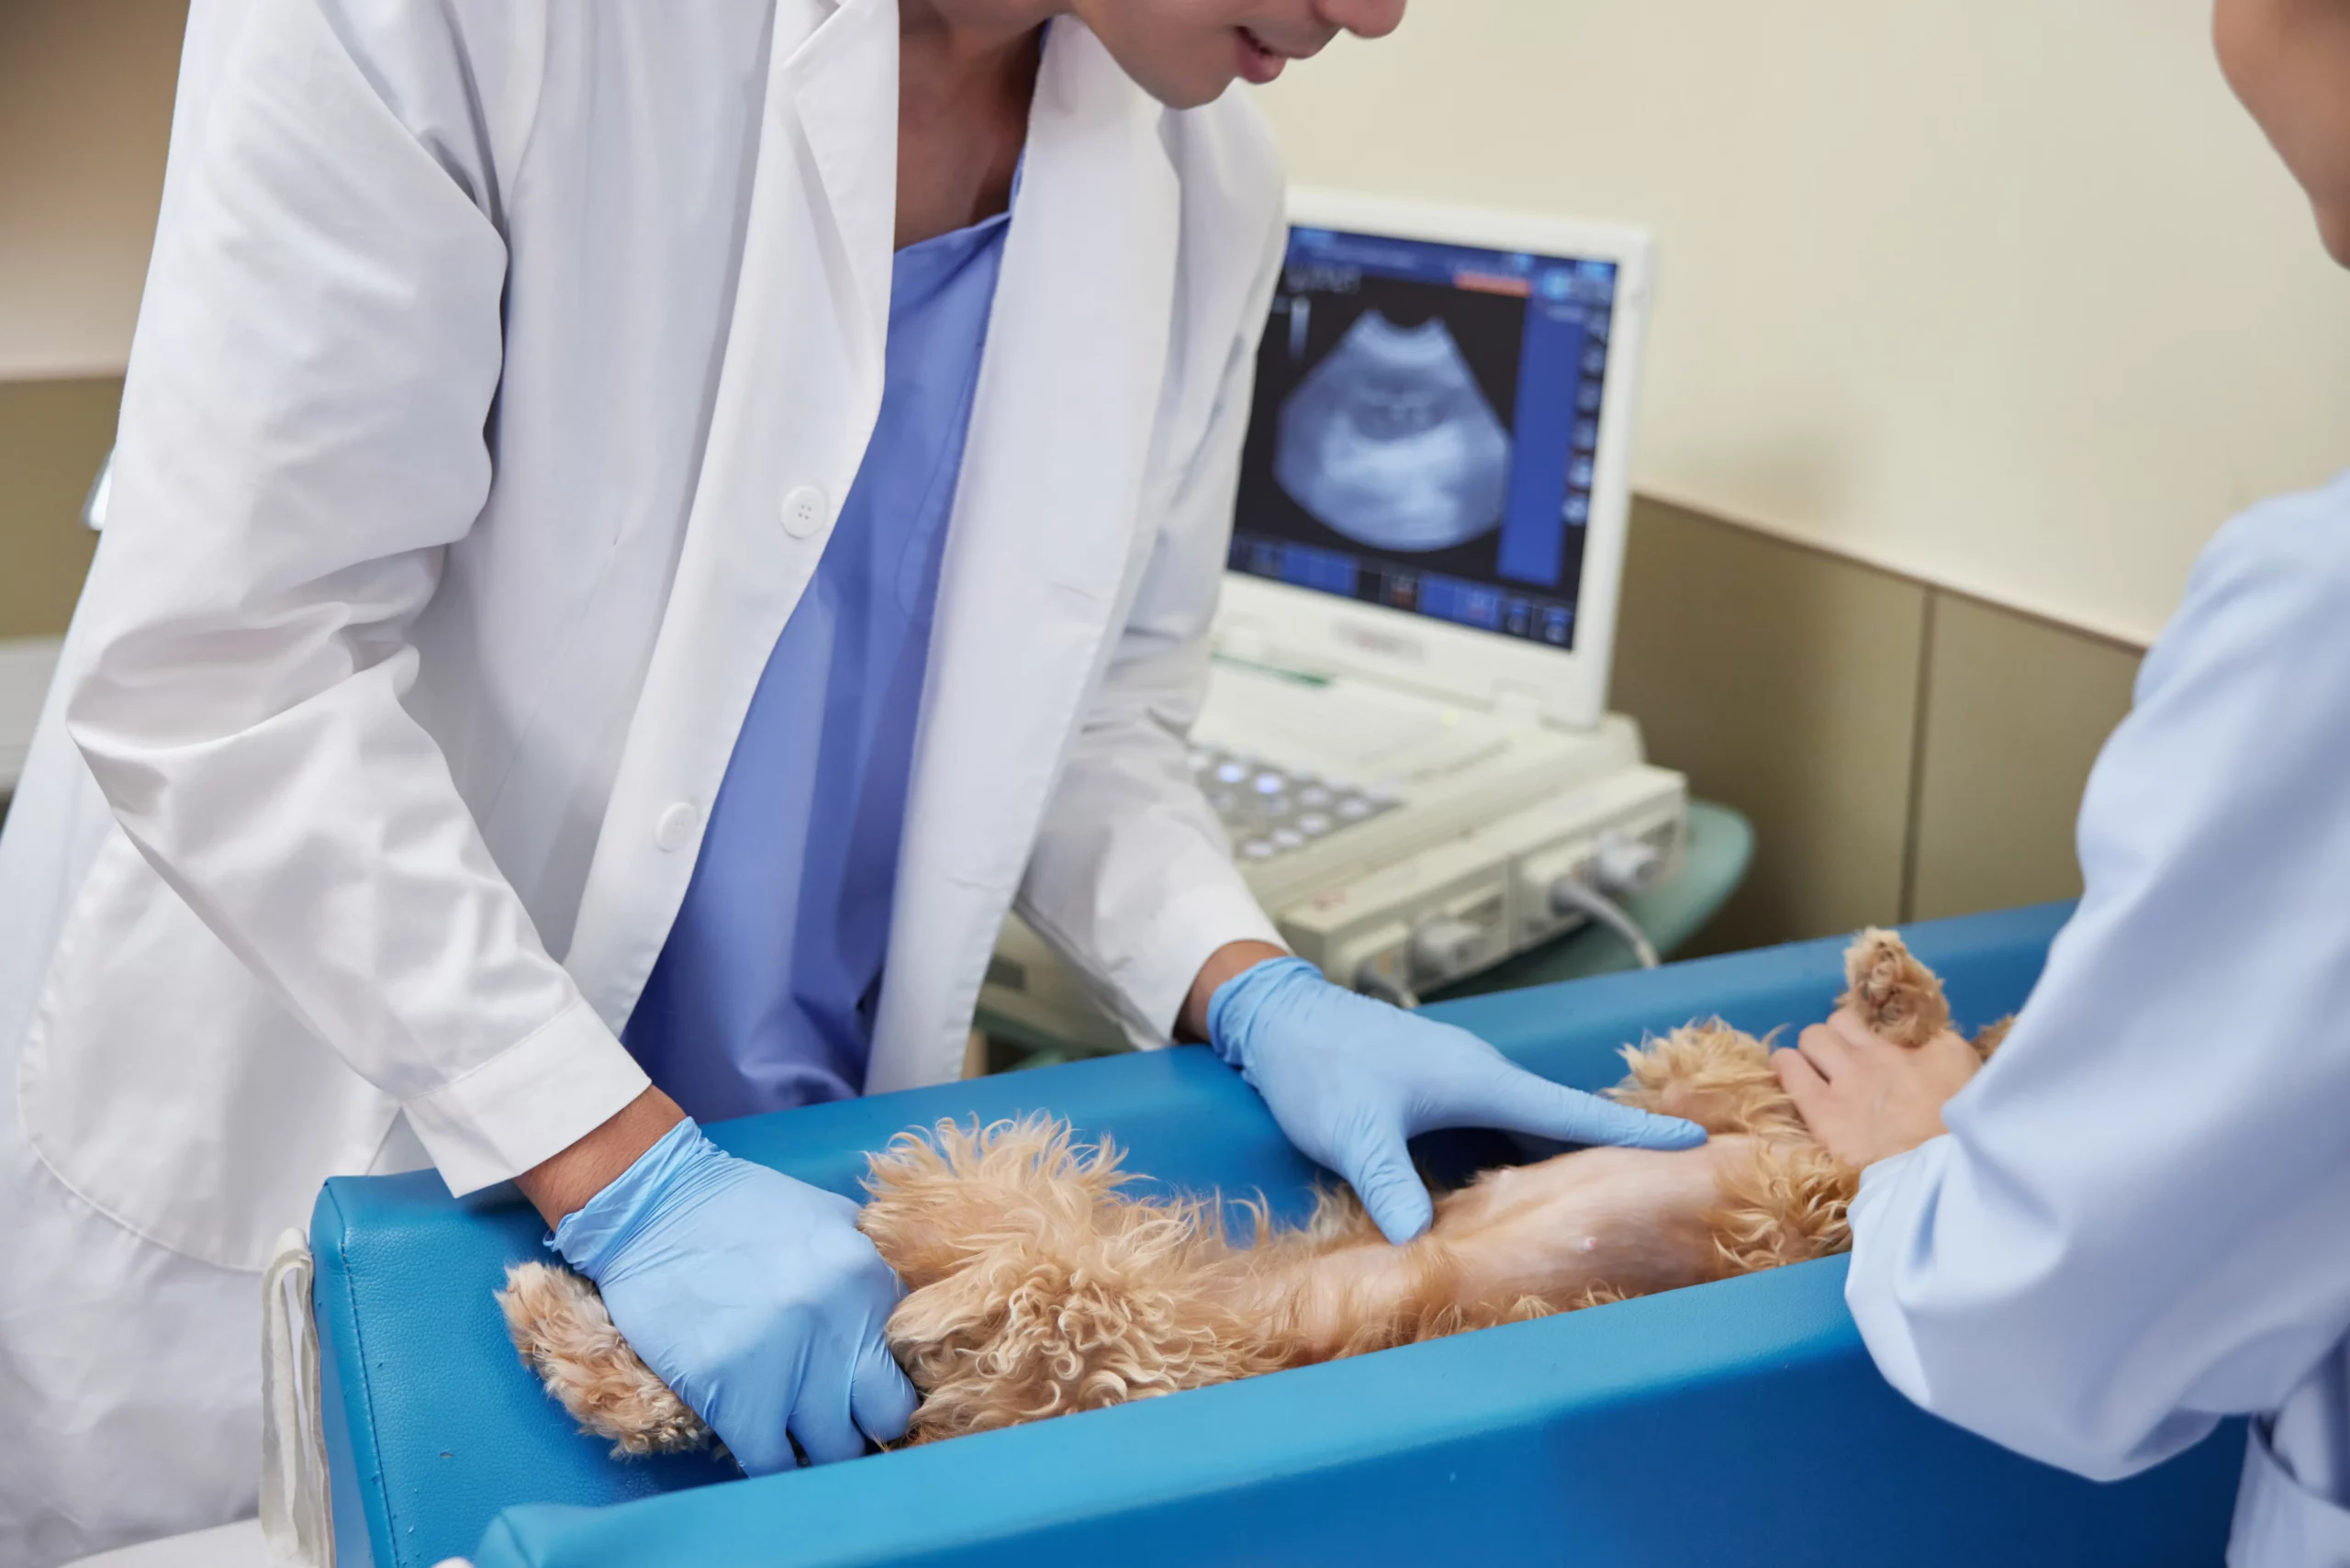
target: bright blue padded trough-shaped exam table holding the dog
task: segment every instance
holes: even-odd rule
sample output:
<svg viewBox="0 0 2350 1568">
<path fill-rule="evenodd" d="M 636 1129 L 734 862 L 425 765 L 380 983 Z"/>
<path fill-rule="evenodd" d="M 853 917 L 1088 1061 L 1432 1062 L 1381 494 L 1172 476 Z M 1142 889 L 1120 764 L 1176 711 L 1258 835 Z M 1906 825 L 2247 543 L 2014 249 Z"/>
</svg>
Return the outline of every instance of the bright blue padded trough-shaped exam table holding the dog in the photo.
<svg viewBox="0 0 2350 1568">
<path fill-rule="evenodd" d="M 2066 907 L 1918 926 L 1967 1025 L 2016 1009 Z M 1817 1020 L 1842 943 L 1441 1009 L 1589 1088 L 1617 1046 L 1718 1013 Z M 1431 1009 L 1436 1011 L 1436 1009 Z M 855 1192 L 865 1150 L 940 1117 L 1050 1110 L 1135 1171 L 1304 1208 L 1314 1171 L 1206 1051 L 1119 1056 L 714 1126 Z M 1436 1166 L 1506 1157 L 1434 1140 Z M 508 1347 L 491 1288 L 538 1218 L 432 1173 L 334 1180 L 310 1241 L 341 1568 L 881 1563 L 2218 1563 L 2230 1425 L 2092 1486 L 1918 1413 L 1868 1363 L 1840 1258 L 1116 1410 L 761 1481 L 620 1462 Z"/>
</svg>

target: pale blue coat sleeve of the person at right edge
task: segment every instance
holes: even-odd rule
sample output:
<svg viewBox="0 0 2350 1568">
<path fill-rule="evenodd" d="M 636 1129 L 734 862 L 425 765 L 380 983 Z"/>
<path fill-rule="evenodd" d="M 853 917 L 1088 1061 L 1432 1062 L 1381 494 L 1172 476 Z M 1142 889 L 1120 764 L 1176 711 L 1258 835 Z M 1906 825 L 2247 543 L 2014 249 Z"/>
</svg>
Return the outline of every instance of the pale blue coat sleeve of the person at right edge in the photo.
<svg viewBox="0 0 2350 1568">
<path fill-rule="evenodd" d="M 1920 1406 L 2115 1479 L 2350 1331 L 2350 482 L 2230 524 L 2089 780 L 2087 893 L 1847 1300 Z"/>
</svg>

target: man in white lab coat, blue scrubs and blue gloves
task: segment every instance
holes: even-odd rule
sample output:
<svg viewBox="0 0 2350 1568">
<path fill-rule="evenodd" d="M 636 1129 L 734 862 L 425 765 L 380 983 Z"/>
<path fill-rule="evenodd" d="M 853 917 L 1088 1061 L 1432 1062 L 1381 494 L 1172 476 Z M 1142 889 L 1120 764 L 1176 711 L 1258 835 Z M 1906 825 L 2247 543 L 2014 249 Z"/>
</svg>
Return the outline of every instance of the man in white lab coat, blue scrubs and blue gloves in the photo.
<svg viewBox="0 0 2350 1568">
<path fill-rule="evenodd" d="M 1189 783 L 1283 240 L 1224 89 L 1401 14 L 197 0 L 0 842 L 0 1561 L 254 1507 L 350 1171 L 519 1178 L 752 1469 L 893 1436 L 851 1206 L 684 1112 L 954 1077 L 1015 896 L 1391 1234 L 1429 1126 L 1687 1140 L 1300 973 Z"/>
</svg>

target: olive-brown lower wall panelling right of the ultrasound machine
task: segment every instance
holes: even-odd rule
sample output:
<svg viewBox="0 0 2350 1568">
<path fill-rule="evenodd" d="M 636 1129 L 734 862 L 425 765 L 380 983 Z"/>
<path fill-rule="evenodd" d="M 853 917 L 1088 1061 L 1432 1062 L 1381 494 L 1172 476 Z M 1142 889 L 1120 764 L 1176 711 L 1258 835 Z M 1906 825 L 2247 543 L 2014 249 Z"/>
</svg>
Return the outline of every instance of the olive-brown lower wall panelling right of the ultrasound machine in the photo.
<svg viewBox="0 0 2350 1568">
<path fill-rule="evenodd" d="M 2138 651 L 1659 501 L 1614 705 L 1755 825 L 1701 952 L 2073 898 L 2073 818 Z"/>
</svg>

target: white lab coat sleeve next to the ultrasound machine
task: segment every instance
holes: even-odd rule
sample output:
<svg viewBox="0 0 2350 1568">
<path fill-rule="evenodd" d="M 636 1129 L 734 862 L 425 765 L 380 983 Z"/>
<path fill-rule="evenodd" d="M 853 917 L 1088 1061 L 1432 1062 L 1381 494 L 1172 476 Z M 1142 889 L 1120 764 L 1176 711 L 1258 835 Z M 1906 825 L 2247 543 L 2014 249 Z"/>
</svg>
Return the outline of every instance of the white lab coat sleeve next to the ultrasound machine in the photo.
<svg viewBox="0 0 2350 1568">
<path fill-rule="evenodd" d="M 1257 334 L 1285 235 L 1276 221 L 1206 437 L 1163 510 L 1020 889 L 1022 917 L 1116 1006 L 1137 1046 L 1168 1041 L 1217 947 L 1281 943 L 1191 780 L 1187 736 L 1208 686 L 1208 625 L 1231 543 Z"/>
</svg>

